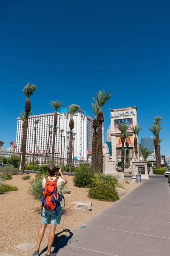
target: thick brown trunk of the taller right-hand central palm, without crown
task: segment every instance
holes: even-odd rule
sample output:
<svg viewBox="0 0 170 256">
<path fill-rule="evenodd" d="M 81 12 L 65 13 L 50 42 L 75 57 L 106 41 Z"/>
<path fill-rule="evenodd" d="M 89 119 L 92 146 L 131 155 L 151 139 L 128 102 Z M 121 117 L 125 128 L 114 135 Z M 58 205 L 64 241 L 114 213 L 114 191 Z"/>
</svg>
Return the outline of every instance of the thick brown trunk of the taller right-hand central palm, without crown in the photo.
<svg viewBox="0 0 170 256">
<path fill-rule="evenodd" d="M 102 122 L 99 121 L 99 129 L 97 134 L 97 151 L 98 151 L 98 159 L 97 159 L 97 172 L 101 174 L 103 172 L 103 148 L 102 148 Z"/>
</svg>

